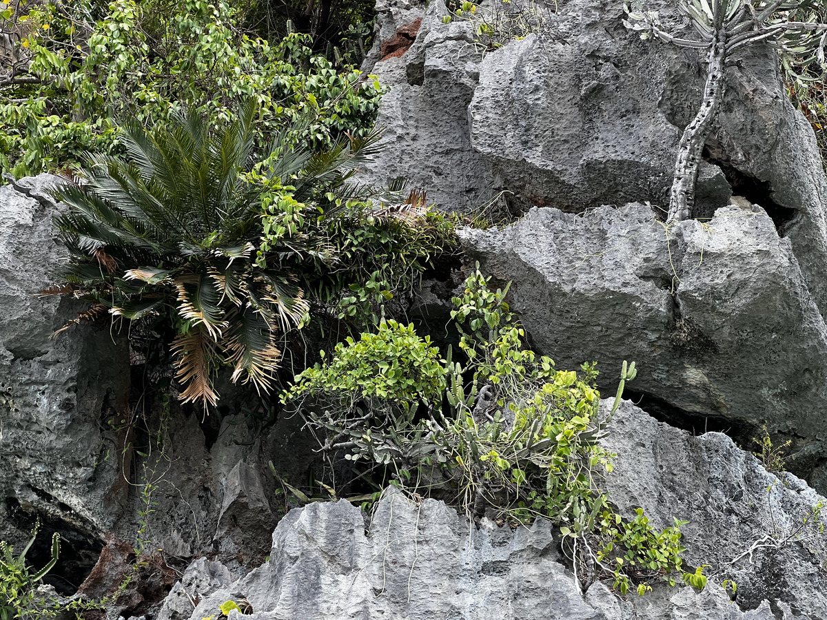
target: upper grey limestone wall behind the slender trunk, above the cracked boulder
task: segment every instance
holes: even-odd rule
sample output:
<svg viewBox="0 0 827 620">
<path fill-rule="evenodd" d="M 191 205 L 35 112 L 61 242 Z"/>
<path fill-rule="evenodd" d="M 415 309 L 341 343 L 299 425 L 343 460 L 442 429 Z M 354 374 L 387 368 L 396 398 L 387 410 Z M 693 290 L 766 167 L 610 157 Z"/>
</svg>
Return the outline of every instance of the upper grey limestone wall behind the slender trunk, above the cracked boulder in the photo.
<svg viewBox="0 0 827 620">
<path fill-rule="evenodd" d="M 399 13 L 395 2 L 376 6 Z M 442 23 L 437 0 L 405 55 L 366 64 L 391 90 L 378 122 L 388 148 L 363 178 L 405 176 L 448 211 L 490 207 L 500 196 L 511 212 L 637 201 L 665 213 L 677 142 L 700 105 L 703 55 L 642 41 L 624 27 L 619 2 L 514 0 L 509 10 L 542 14 L 544 25 L 482 53 L 473 21 Z M 647 10 L 693 36 L 672 0 L 647 2 Z M 827 182 L 815 135 L 787 100 L 767 46 L 743 47 L 727 64 L 704 156 L 693 217 L 711 217 L 733 194 L 758 203 L 790 239 L 815 303 L 827 308 Z"/>
</svg>

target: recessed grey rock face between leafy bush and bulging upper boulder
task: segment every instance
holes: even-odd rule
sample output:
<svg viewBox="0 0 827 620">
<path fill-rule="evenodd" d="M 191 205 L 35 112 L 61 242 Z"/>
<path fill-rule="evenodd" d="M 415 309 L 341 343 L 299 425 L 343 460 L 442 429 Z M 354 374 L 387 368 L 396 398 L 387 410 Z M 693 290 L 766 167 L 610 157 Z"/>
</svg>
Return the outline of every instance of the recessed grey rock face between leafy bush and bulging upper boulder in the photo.
<svg viewBox="0 0 827 620">
<path fill-rule="evenodd" d="M 380 15 L 392 14 L 394 29 L 416 14 L 399 11 L 393 3 L 389 9 L 377 2 L 377 8 Z M 385 129 L 384 150 L 364 166 L 361 179 L 387 184 L 404 177 L 412 188 L 428 191 L 428 203 L 445 211 L 468 211 L 490 200 L 496 184 L 488 163 L 471 149 L 468 126 L 482 53 L 474 45 L 471 24 L 443 24 L 446 15 L 444 2 L 434 0 L 404 55 L 375 64 L 369 57 L 363 66 L 391 90 L 376 119 L 376 126 Z M 380 28 L 377 46 L 386 31 L 389 26 Z"/>
</svg>

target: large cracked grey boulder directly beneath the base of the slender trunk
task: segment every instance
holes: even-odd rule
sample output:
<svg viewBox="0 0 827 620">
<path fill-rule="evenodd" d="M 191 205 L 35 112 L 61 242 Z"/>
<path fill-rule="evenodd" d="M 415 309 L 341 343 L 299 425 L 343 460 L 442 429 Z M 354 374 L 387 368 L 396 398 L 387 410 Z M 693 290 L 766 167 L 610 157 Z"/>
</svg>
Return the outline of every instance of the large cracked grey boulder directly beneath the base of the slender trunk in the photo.
<svg viewBox="0 0 827 620">
<path fill-rule="evenodd" d="M 638 204 L 538 208 L 461 239 L 484 273 L 514 281 L 512 308 L 560 367 L 597 361 L 611 389 L 635 360 L 635 392 L 745 436 L 766 423 L 802 470 L 824 454 L 827 328 L 765 213 L 725 207 L 667 232 Z"/>
</svg>

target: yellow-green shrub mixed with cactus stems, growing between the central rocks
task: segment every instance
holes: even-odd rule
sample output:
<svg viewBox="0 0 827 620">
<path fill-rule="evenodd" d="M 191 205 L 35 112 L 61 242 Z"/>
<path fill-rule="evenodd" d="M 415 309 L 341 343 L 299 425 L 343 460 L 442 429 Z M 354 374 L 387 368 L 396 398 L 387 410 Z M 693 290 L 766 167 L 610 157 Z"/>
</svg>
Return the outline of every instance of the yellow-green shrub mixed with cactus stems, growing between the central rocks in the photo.
<svg viewBox="0 0 827 620">
<path fill-rule="evenodd" d="M 624 521 L 600 491 L 612 455 L 597 440 L 614 408 L 600 411 L 593 365 L 557 370 L 528 350 L 504 294 L 476 271 L 454 298 L 464 368 L 387 321 L 299 374 L 284 398 L 304 403 L 328 455 L 386 465 L 411 493 L 473 517 L 551 519 L 583 579 L 613 579 L 624 594 L 656 579 L 702 587 L 702 574 L 682 569 L 684 522 L 658 532 L 643 513 Z M 634 374 L 624 366 L 621 389 Z"/>
</svg>

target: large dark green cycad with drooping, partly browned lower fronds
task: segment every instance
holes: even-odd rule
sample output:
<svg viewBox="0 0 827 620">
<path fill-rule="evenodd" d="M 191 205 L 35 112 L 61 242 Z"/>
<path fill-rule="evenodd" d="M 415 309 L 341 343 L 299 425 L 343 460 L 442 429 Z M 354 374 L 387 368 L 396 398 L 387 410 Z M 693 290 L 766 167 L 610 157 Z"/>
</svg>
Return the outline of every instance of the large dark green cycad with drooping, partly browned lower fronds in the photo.
<svg viewBox="0 0 827 620">
<path fill-rule="evenodd" d="M 274 204 L 304 208 L 313 194 L 344 191 L 348 169 L 375 140 L 311 154 L 290 148 L 284 133 L 261 174 L 253 171 L 255 118 L 247 103 L 221 131 L 198 114 L 154 131 L 127 122 L 126 155 L 90 155 L 78 180 L 55 189 L 69 205 L 56 223 L 74 294 L 93 301 L 92 314 L 169 317 L 184 402 L 217 403 L 213 377 L 222 364 L 232 366 L 233 381 L 270 389 L 280 336 L 308 313 L 289 265 L 324 257 L 326 248 L 292 229 L 263 255 L 262 216 Z"/>
</svg>

